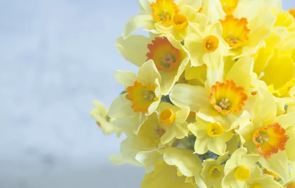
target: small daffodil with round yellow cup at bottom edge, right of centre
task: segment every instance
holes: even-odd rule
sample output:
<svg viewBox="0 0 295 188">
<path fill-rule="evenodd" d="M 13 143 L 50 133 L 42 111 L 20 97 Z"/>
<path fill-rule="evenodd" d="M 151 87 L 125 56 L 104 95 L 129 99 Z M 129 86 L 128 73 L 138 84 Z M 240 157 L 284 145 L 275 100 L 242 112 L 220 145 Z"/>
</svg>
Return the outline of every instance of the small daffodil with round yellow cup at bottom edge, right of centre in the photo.
<svg viewBox="0 0 295 188">
<path fill-rule="evenodd" d="M 224 167 L 222 188 L 246 188 L 252 177 L 259 177 L 261 170 L 256 164 L 259 156 L 247 154 L 247 149 L 237 149 Z"/>
</svg>

